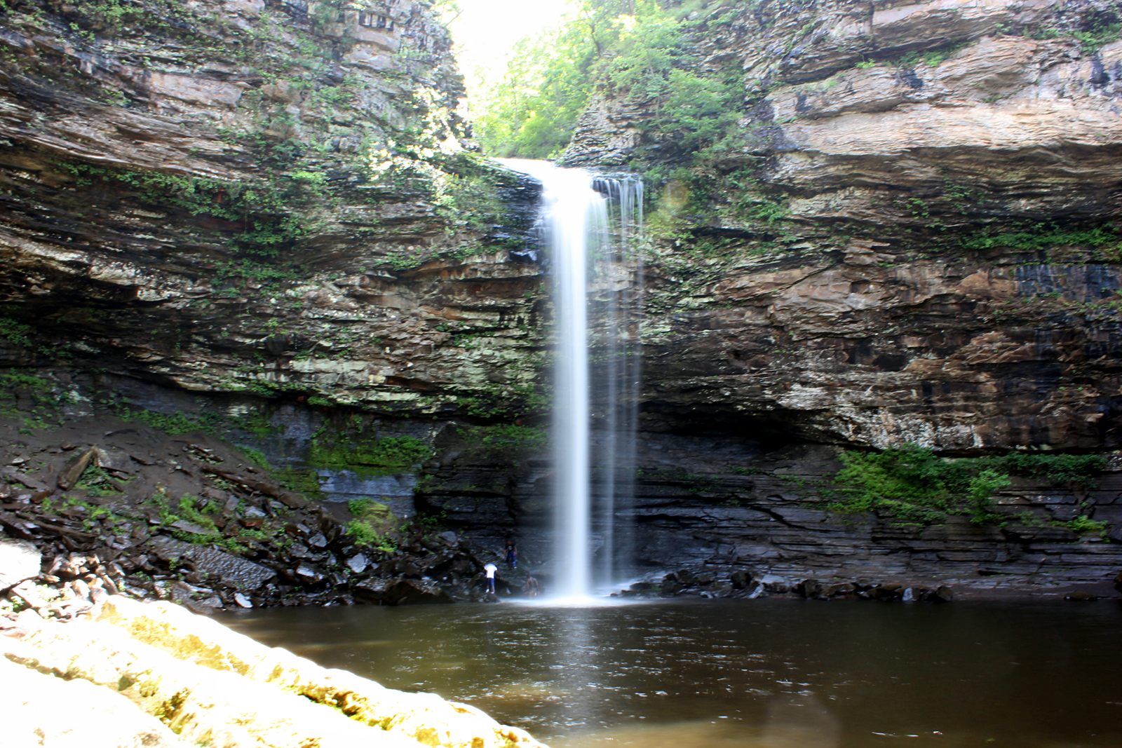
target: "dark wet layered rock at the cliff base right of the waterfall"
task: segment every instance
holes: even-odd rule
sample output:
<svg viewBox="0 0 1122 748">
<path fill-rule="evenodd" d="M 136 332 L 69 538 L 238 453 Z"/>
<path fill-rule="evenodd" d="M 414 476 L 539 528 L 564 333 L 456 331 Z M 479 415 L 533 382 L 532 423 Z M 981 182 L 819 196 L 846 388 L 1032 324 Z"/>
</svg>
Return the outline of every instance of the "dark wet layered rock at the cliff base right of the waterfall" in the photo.
<svg viewBox="0 0 1122 748">
<path fill-rule="evenodd" d="M 966 594 L 1055 594 L 1086 585 L 1106 593 L 1122 566 L 1118 461 L 1089 490 L 1015 477 L 994 496 L 1003 521 L 951 517 L 908 527 L 833 510 L 840 498 L 831 482 L 835 455 L 830 447 L 782 445 L 774 435 L 646 437 L 626 512 L 636 561 L 646 569 L 692 570 L 718 588 L 736 588 L 738 572 L 757 581 L 771 575 L 771 592 L 788 591 L 775 587 L 780 582 L 793 588 L 809 578 L 824 588 L 859 581 L 865 588 L 948 584 Z M 1086 511 L 1109 524 L 1105 536 L 1063 525 Z M 755 587 L 743 574 L 739 580 L 745 593 Z"/>
</svg>

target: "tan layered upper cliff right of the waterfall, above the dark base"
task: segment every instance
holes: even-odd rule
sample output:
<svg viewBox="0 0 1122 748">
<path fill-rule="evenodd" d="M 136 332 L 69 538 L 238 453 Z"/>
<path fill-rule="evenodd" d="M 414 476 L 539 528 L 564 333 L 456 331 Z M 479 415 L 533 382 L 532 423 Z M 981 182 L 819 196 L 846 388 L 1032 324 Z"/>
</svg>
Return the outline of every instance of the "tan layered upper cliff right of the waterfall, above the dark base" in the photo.
<svg viewBox="0 0 1122 748">
<path fill-rule="evenodd" d="M 1116 446 L 1118 22 L 1045 1 L 695 19 L 698 64 L 743 68 L 744 117 L 663 191 L 689 238 L 652 247 L 649 413 L 870 446 Z M 570 160 L 672 150 L 626 100 L 585 124 Z"/>
</svg>

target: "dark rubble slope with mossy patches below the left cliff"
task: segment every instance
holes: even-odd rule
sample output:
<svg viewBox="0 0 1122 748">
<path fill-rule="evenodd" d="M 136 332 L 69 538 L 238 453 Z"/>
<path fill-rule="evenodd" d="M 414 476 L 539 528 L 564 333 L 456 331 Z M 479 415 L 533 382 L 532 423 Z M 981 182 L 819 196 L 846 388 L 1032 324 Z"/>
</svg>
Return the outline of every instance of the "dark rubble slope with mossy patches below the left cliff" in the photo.
<svg viewBox="0 0 1122 748">
<path fill-rule="evenodd" d="M 288 488 L 314 471 L 88 406 L 57 430 L 0 423 L 0 609 L 73 619 L 126 591 L 199 612 L 484 597 L 485 558 L 453 532 L 384 507 L 356 534 L 346 500 Z"/>
</svg>

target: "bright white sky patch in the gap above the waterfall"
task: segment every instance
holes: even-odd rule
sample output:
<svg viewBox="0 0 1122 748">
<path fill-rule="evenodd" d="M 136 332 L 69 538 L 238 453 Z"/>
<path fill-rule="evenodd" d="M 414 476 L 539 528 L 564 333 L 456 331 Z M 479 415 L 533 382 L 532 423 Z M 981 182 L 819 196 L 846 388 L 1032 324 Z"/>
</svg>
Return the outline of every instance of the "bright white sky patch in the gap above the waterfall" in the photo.
<svg viewBox="0 0 1122 748">
<path fill-rule="evenodd" d="M 473 98 L 481 80 L 497 74 L 514 43 L 555 25 L 570 0 L 459 0 L 452 21 L 456 57 Z"/>
</svg>

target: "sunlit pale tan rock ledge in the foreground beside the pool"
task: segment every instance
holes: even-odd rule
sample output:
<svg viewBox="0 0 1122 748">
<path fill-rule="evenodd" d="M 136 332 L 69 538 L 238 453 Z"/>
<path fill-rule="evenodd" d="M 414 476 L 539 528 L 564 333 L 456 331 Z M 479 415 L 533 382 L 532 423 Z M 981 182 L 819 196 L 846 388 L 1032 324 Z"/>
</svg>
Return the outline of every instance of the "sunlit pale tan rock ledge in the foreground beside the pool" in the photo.
<svg viewBox="0 0 1122 748">
<path fill-rule="evenodd" d="M 22 707 L 9 746 L 543 748 L 471 707 L 320 667 L 172 603 L 113 595 L 0 646 L 0 698 Z"/>
</svg>

